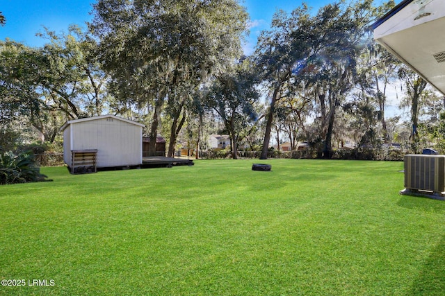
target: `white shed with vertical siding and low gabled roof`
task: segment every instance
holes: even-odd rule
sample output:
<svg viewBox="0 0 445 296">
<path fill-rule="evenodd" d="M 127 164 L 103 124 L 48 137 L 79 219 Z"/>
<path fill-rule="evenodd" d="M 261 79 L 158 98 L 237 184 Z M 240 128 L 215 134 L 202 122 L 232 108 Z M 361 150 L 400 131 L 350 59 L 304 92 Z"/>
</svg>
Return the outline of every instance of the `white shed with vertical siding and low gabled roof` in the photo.
<svg viewBox="0 0 445 296">
<path fill-rule="evenodd" d="M 143 127 L 114 115 L 67 121 L 60 129 L 63 160 L 73 170 L 75 153 L 94 155 L 97 168 L 139 166 L 143 156 Z"/>
</svg>

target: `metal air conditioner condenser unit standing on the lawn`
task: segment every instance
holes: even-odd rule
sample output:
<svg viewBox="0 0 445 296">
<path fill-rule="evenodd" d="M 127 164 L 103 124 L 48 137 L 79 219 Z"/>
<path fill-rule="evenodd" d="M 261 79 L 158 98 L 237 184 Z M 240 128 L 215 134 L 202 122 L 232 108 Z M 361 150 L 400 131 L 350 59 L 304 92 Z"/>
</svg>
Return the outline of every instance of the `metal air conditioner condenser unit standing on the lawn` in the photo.
<svg viewBox="0 0 445 296">
<path fill-rule="evenodd" d="M 405 155 L 404 195 L 445 200 L 445 155 Z"/>
</svg>

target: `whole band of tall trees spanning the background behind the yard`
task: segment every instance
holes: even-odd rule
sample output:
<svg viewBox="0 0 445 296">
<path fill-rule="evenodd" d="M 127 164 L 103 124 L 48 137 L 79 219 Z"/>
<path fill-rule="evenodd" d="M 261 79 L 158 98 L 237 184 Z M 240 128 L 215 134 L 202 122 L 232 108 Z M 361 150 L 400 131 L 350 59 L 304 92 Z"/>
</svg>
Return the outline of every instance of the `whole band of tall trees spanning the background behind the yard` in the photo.
<svg viewBox="0 0 445 296">
<path fill-rule="evenodd" d="M 274 137 L 278 150 L 307 142 L 311 157 L 346 143 L 354 157 L 392 142 L 442 149 L 443 100 L 372 38 L 370 25 L 392 7 L 357 0 L 277 10 L 244 57 L 249 16 L 240 1 L 99 0 L 88 31 L 45 28 L 40 48 L 0 41 L 0 150 L 60 145 L 65 121 L 105 113 L 145 123 L 149 155 L 160 132 L 168 156 L 208 149 L 212 133 L 229 135 L 234 158 L 239 150 L 268 157 Z M 389 114 L 397 104 L 389 92 L 405 114 Z"/>
</svg>

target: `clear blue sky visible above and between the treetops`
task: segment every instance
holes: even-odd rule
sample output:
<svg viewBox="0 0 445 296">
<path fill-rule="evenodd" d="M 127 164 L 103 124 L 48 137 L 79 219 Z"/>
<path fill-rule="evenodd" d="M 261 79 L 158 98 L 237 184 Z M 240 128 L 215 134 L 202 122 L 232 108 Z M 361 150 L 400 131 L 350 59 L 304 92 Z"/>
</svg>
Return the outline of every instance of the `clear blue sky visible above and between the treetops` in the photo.
<svg viewBox="0 0 445 296">
<path fill-rule="evenodd" d="M 334 0 L 306 1 L 314 12 Z M 36 33 L 43 32 L 43 26 L 51 31 L 66 32 L 68 26 L 85 26 L 92 16 L 95 0 L 0 0 L 0 11 L 6 17 L 6 26 L 0 26 L 0 40 L 6 37 L 28 46 L 42 46 L 45 43 Z M 277 9 L 291 12 L 302 0 L 244 0 L 251 19 L 250 37 L 245 44 L 245 53 L 251 53 L 259 32 L 270 26 L 270 20 Z"/>
</svg>

